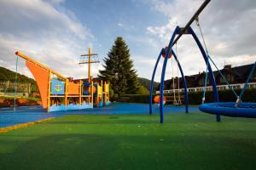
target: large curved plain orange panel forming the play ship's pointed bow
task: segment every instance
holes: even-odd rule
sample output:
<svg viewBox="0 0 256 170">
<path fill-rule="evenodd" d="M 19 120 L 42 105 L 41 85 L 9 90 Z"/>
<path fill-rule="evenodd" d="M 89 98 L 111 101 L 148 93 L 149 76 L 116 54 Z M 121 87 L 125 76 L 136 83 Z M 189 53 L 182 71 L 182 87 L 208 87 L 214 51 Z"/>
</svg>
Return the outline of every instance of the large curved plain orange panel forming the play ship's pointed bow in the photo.
<svg viewBox="0 0 256 170">
<path fill-rule="evenodd" d="M 43 108 L 47 108 L 47 91 L 48 91 L 48 78 L 49 71 L 34 65 L 29 61 L 26 61 L 26 66 L 32 72 L 33 77 L 36 79 L 38 84 L 39 92 L 42 99 Z"/>
</svg>

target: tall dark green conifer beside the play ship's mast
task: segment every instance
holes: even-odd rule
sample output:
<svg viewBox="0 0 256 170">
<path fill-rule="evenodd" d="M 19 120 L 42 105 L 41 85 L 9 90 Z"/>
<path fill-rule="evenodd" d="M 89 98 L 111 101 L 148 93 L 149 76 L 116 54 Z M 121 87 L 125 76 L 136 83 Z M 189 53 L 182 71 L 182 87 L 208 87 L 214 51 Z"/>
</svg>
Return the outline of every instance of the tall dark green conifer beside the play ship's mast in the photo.
<svg viewBox="0 0 256 170">
<path fill-rule="evenodd" d="M 139 88 L 137 71 L 133 69 L 130 59 L 130 49 L 122 37 L 117 37 L 108 57 L 104 60 L 104 69 L 98 75 L 105 81 L 110 82 L 114 94 L 136 94 Z"/>
</svg>

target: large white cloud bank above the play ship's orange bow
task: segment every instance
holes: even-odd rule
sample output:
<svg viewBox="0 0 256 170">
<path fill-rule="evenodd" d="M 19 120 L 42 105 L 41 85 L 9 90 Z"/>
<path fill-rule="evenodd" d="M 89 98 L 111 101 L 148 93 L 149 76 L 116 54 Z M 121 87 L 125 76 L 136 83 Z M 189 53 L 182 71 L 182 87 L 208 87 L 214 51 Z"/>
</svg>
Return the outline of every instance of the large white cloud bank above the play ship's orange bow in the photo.
<svg viewBox="0 0 256 170">
<path fill-rule="evenodd" d="M 94 37 L 72 11 L 59 10 L 53 3 L 62 1 L 0 2 L 1 65 L 14 70 L 15 51 L 20 50 L 65 76 L 85 77 L 84 67 L 78 65 L 79 55 Z M 19 68 L 27 74 L 26 65 Z"/>
</svg>

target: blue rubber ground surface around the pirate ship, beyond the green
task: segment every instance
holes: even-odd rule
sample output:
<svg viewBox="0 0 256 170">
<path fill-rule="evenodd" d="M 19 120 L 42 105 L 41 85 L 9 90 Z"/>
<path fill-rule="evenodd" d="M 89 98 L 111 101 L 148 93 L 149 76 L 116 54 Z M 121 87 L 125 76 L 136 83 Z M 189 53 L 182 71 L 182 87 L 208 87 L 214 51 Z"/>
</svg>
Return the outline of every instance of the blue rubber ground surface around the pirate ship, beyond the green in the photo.
<svg viewBox="0 0 256 170">
<path fill-rule="evenodd" d="M 117 115 L 117 114 L 143 114 L 148 115 L 148 104 L 124 104 L 111 103 L 108 106 L 86 109 L 79 111 L 56 111 L 47 113 L 40 105 L 36 106 L 20 106 L 13 111 L 13 108 L 0 108 L 0 127 L 13 126 L 15 124 L 34 122 L 49 117 L 59 117 L 71 114 L 96 114 L 96 115 Z M 184 112 L 184 106 L 166 105 L 164 107 L 165 113 L 179 113 Z M 190 106 L 189 112 L 200 112 L 198 107 Z M 153 114 L 159 114 L 159 106 L 153 105 Z"/>
</svg>

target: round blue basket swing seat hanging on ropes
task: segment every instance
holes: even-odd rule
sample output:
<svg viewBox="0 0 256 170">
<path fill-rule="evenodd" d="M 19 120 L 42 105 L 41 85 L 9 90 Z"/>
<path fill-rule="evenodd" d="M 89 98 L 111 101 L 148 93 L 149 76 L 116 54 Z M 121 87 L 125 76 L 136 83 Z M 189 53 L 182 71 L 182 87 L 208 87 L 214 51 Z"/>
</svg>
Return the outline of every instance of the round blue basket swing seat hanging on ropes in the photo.
<svg viewBox="0 0 256 170">
<path fill-rule="evenodd" d="M 256 103 L 236 102 L 207 103 L 199 106 L 200 111 L 221 116 L 232 117 L 256 117 Z"/>
</svg>

